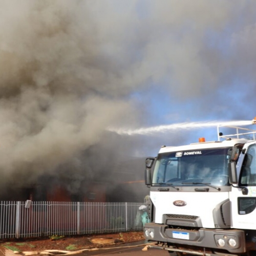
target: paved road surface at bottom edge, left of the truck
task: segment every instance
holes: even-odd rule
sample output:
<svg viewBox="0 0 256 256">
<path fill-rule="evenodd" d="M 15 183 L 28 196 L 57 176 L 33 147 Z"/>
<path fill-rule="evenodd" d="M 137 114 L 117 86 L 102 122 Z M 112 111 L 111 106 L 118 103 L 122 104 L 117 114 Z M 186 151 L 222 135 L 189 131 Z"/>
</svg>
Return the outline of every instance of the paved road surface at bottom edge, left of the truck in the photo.
<svg viewBox="0 0 256 256">
<path fill-rule="evenodd" d="M 148 251 L 142 251 L 145 246 L 112 248 L 107 250 L 97 250 L 92 252 L 84 252 L 78 256 L 169 256 L 168 251 L 149 248 Z"/>
</svg>

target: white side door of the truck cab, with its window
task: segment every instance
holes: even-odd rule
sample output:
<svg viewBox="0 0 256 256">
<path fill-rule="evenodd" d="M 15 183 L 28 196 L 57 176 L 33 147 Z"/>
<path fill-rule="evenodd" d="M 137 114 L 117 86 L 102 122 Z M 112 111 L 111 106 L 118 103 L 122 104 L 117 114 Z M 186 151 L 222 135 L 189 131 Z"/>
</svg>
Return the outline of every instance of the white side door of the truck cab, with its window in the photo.
<svg viewBox="0 0 256 256">
<path fill-rule="evenodd" d="M 232 227 L 256 230 L 256 143 L 245 144 L 243 153 L 238 185 L 230 192 Z"/>
</svg>

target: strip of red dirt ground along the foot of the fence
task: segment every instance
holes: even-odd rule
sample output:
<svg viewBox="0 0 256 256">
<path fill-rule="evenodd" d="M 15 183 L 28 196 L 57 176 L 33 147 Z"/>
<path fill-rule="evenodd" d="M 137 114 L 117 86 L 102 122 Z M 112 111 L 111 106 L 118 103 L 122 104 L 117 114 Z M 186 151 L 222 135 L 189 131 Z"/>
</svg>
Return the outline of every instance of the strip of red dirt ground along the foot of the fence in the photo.
<svg viewBox="0 0 256 256">
<path fill-rule="evenodd" d="M 23 239 L 1 239 L 0 247 L 13 251 L 43 251 L 43 250 L 64 250 L 74 251 L 88 248 L 101 248 L 110 244 L 123 244 L 128 242 L 142 241 L 145 238 L 143 232 L 126 232 L 103 235 L 80 235 L 51 238 L 23 238 Z M 92 241 L 99 242 L 93 243 Z M 103 244 L 105 242 L 105 244 Z"/>
</svg>

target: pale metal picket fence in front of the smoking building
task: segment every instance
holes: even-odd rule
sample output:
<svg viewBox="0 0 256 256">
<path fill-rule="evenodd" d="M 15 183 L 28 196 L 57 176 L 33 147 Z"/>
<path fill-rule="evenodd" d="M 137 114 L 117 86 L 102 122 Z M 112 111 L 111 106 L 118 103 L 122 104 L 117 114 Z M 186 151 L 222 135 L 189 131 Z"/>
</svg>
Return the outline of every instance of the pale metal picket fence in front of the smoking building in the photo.
<svg viewBox="0 0 256 256">
<path fill-rule="evenodd" d="M 0 202 L 0 238 L 141 231 L 145 203 Z"/>
</svg>

